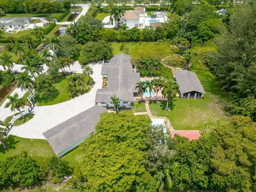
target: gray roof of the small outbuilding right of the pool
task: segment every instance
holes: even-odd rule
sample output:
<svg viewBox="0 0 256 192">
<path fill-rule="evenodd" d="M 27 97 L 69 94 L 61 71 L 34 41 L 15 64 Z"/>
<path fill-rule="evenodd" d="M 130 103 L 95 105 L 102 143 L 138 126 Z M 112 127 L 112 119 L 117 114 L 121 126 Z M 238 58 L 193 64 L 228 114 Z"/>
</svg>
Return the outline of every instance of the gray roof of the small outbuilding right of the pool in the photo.
<svg viewBox="0 0 256 192">
<path fill-rule="evenodd" d="M 204 93 L 204 88 L 201 85 L 196 73 L 188 70 L 182 70 L 174 74 L 177 84 L 180 86 L 180 93 L 188 93 L 196 91 L 198 93 Z"/>
</svg>

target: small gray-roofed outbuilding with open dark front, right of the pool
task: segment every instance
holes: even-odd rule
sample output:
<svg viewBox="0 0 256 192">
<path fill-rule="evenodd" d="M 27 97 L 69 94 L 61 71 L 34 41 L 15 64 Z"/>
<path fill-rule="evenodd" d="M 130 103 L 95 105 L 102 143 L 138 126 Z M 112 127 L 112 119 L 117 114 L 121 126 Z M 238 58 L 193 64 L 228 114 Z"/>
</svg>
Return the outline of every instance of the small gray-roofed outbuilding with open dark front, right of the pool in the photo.
<svg viewBox="0 0 256 192">
<path fill-rule="evenodd" d="M 205 91 L 196 73 L 182 70 L 174 74 L 174 79 L 179 85 L 180 98 L 203 98 Z"/>
</svg>

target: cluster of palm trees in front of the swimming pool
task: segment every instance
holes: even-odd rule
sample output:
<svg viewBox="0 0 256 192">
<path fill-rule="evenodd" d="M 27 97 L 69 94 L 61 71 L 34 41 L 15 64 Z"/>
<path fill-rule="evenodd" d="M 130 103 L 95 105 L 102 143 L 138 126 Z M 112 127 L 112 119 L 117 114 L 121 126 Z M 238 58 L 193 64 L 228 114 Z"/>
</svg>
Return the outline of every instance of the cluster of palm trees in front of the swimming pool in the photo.
<svg viewBox="0 0 256 192">
<path fill-rule="evenodd" d="M 156 100 L 158 100 L 158 92 L 162 93 L 162 102 L 166 98 L 166 110 L 169 109 L 169 103 L 171 103 L 172 98 L 178 93 L 179 85 L 171 80 L 164 80 L 163 78 L 155 78 L 153 81 L 141 81 L 137 83 L 135 87 L 138 93 L 141 95 L 141 101 L 143 101 L 143 93 L 149 91 L 149 101 L 151 101 L 151 92 L 156 93 Z"/>
</svg>

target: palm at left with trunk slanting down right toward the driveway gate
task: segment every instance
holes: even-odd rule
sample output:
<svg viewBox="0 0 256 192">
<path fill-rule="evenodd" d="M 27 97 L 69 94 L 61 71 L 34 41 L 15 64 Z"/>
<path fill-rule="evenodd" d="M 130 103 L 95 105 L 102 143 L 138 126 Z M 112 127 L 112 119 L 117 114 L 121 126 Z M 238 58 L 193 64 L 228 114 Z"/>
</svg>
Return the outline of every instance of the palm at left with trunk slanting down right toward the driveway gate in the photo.
<svg viewBox="0 0 256 192">
<path fill-rule="evenodd" d="M 35 101 L 33 94 L 31 93 L 30 89 L 33 87 L 34 85 L 34 81 L 32 80 L 32 77 L 30 75 L 28 75 L 28 73 L 24 72 L 22 74 L 19 74 L 17 76 L 17 86 L 21 87 L 21 91 L 22 90 L 28 90 L 33 101 Z"/>
</svg>

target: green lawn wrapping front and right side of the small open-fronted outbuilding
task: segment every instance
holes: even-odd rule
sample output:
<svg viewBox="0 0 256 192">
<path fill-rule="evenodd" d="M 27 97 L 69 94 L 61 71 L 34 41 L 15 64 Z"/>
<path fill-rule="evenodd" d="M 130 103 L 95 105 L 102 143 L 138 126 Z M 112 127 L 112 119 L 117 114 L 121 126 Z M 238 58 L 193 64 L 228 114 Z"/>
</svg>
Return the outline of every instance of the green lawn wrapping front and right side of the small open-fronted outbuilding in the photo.
<svg viewBox="0 0 256 192">
<path fill-rule="evenodd" d="M 220 89 L 217 79 L 204 66 L 191 68 L 201 81 L 206 94 L 204 99 L 180 99 L 176 97 L 171 103 L 171 111 L 164 110 L 165 105 L 161 102 L 150 104 L 150 110 L 155 116 L 169 115 L 169 120 L 177 130 L 200 130 L 206 131 L 218 126 L 219 122 L 227 121 L 228 116 L 222 110 L 223 98 L 226 94 Z"/>
</svg>

